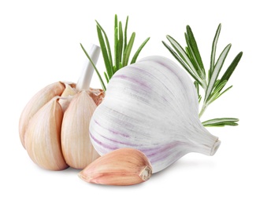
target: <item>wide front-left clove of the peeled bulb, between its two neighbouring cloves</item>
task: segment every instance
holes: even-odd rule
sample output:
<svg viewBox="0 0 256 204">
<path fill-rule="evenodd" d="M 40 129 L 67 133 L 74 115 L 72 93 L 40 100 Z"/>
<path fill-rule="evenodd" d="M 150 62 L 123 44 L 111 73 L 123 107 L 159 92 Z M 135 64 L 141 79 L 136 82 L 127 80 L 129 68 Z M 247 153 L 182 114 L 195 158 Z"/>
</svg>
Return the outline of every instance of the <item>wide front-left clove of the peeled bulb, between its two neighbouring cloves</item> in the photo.
<svg viewBox="0 0 256 204">
<path fill-rule="evenodd" d="M 39 109 L 29 122 L 25 144 L 32 161 L 43 169 L 61 170 L 69 166 L 61 152 L 63 113 L 57 98 Z"/>
</svg>

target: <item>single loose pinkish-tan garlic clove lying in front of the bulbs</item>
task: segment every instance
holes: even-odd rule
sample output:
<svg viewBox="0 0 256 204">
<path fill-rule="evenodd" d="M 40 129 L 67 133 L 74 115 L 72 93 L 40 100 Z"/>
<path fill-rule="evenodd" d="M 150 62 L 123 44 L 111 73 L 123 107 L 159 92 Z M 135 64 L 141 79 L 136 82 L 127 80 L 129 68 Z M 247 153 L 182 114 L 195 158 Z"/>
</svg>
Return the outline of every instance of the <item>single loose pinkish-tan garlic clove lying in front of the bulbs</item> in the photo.
<svg viewBox="0 0 256 204">
<path fill-rule="evenodd" d="M 142 151 L 121 148 L 97 158 L 78 176 L 94 184 L 133 185 L 148 180 L 151 174 L 152 167 Z"/>
</svg>

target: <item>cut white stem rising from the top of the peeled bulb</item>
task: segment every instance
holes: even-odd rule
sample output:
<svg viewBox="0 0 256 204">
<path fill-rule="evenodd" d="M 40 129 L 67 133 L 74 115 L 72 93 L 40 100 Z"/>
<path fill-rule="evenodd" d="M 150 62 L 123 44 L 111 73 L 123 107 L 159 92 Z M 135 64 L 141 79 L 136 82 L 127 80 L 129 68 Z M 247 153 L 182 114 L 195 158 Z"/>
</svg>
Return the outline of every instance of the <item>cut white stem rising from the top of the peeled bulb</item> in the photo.
<svg viewBox="0 0 256 204">
<path fill-rule="evenodd" d="M 93 44 L 91 46 L 90 50 L 90 57 L 91 60 L 96 64 L 98 61 L 98 56 L 100 54 L 100 47 L 96 46 Z M 89 89 L 90 84 L 91 84 L 91 78 L 94 73 L 95 69 L 93 65 L 91 64 L 90 60 L 86 60 L 85 63 L 83 64 L 83 69 L 81 71 L 80 78 L 78 79 L 78 82 L 76 83 L 76 89 L 77 90 L 82 90 L 82 89 Z"/>
</svg>

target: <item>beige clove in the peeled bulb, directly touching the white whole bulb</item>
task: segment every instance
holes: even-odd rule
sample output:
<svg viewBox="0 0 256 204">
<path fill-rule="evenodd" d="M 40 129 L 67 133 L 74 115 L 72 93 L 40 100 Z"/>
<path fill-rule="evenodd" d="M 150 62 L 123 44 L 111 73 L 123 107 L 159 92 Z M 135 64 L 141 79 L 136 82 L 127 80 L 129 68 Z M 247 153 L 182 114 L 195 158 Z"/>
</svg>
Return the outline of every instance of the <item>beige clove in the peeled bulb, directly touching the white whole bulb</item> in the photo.
<svg viewBox="0 0 256 204">
<path fill-rule="evenodd" d="M 91 144 L 89 123 L 96 109 L 86 90 L 72 98 L 61 126 L 61 148 L 65 161 L 75 169 L 83 169 L 99 157 Z"/>
</svg>

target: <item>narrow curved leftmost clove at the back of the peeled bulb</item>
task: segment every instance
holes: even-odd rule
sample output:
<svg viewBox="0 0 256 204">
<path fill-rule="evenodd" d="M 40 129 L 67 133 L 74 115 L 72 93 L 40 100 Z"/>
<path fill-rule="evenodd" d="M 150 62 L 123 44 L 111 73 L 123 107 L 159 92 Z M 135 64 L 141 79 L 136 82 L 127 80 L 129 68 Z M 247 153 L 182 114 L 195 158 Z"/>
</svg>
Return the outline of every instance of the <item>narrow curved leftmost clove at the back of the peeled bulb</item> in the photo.
<svg viewBox="0 0 256 204">
<path fill-rule="evenodd" d="M 28 101 L 28 104 L 24 107 L 24 110 L 20 115 L 19 122 L 20 141 L 24 148 L 26 148 L 24 142 L 24 135 L 28 128 L 28 122 L 30 121 L 32 116 L 35 115 L 35 113 L 39 111 L 39 109 L 52 98 L 56 96 L 61 96 L 61 93 L 64 91 L 64 89 L 65 85 L 63 83 L 54 82 L 41 89 L 38 93 L 35 94 L 34 97 L 32 97 L 31 100 Z"/>
</svg>

